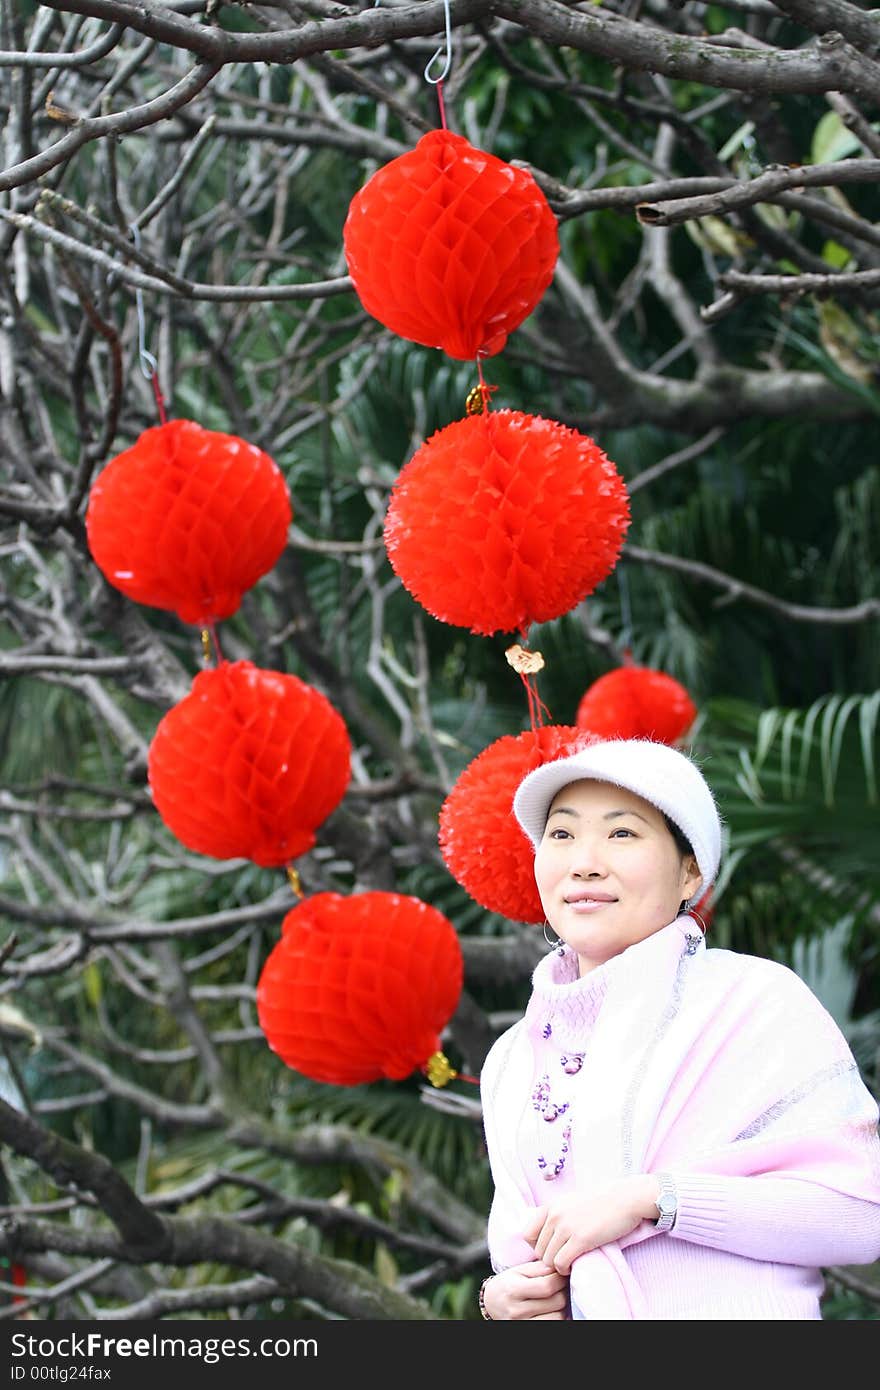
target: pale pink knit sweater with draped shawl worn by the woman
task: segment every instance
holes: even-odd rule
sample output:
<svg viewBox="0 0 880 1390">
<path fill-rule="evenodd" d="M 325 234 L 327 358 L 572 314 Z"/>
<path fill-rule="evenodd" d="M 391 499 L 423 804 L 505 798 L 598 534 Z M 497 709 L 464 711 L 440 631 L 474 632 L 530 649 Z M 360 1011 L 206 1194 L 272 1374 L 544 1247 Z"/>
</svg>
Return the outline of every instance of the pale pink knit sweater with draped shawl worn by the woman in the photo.
<svg viewBox="0 0 880 1390">
<path fill-rule="evenodd" d="M 534 1207 L 669 1172 L 673 1230 L 642 1222 L 577 1259 L 574 1318 L 819 1318 L 822 1266 L 880 1258 L 877 1106 L 792 972 L 706 951 L 688 926 L 582 980 L 569 951 L 538 965 L 481 1076 L 492 1264 L 534 1259 Z"/>
</svg>

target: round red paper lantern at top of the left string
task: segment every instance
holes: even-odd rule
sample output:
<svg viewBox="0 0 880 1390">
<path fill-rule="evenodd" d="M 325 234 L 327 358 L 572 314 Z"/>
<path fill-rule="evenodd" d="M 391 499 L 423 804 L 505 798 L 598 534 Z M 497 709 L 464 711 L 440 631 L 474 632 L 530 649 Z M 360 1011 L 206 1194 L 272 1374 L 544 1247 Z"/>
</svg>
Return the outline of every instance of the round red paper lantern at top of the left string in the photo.
<svg viewBox="0 0 880 1390">
<path fill-rule="evenodd" d="M 204 627 L 229 617 L 284 550 L 284 475 L 236 435 L 171 420 L 96 478 L 86 512 L 99 570 L 136 603 Z"/>
</svg>

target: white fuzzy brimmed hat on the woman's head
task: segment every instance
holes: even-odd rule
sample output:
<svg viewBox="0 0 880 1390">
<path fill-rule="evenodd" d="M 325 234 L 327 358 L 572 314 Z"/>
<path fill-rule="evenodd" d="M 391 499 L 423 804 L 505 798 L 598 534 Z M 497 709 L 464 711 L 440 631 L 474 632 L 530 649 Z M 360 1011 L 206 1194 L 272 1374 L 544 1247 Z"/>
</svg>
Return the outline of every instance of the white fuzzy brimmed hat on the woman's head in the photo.
<svg viewBox="0 0 880 1390">
<path fill-rule="evenodd" d="M 584 778 L 626 787 L 669 816 L 691 842 L 705 892 L 722 858 L 722 819 L 696 763 L 649 738 L 609 738 L 542 763 L 523 778 L 513 798 L 513 815 L 535 849 L 556 792 Z"/>
</svg>

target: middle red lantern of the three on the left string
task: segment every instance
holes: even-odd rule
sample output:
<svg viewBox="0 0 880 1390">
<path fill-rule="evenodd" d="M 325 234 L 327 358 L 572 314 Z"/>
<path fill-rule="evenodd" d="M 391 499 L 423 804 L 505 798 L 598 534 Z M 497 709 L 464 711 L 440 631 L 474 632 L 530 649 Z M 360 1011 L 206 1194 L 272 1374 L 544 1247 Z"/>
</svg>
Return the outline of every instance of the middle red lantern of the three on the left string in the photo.
<svg viewBox="0 0 880 1390">
<path fill-rule="evenodd" d="M 311 849 L 342 801 L 350 741 L 296 676 L 224 662 L 160 720 L 147 774 L 158 815 L 189 849 L 278 867 Z"/>
</svg>

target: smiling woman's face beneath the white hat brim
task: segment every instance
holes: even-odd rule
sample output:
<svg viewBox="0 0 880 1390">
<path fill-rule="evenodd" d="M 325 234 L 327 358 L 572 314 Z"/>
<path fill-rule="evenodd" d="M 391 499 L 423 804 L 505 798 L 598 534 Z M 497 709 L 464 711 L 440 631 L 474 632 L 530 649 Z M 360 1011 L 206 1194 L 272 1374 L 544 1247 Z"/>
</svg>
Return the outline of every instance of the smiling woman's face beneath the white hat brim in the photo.
<svg viewBox="0 0 880 1390">
<path fill-rule="evenodd" d="M 576 781 L 551 802 L 535 883 L 584 976 L 667 926 L 702 880 L 656 806 L 610 783 Z"/>
</svg>

